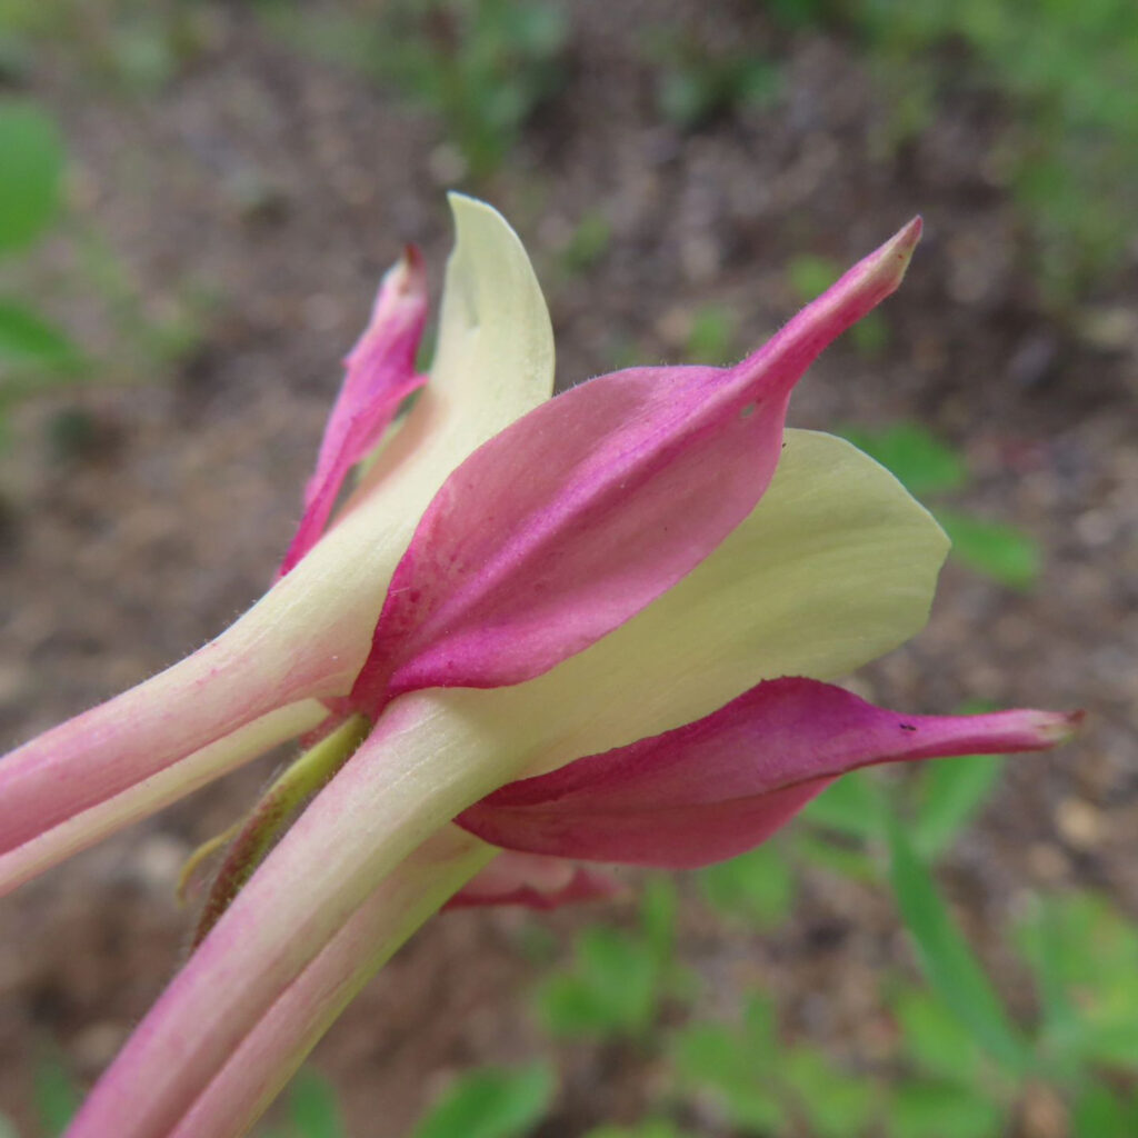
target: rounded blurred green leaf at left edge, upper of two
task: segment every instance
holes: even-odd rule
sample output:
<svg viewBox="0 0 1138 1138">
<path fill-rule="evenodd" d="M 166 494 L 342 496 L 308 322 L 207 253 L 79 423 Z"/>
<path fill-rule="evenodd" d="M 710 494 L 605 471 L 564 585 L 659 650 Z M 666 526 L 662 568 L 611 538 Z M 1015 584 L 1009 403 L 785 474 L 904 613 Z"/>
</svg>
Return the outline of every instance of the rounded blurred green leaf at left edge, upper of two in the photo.
<svg viewBox="0 0 1138 1138">
<path fill-rule="evenodd" d="M 31 245 L 55 220 L 64 162 L 50 115 L 31 102 L 0 101 L 0 254 Z"/>
</svg>

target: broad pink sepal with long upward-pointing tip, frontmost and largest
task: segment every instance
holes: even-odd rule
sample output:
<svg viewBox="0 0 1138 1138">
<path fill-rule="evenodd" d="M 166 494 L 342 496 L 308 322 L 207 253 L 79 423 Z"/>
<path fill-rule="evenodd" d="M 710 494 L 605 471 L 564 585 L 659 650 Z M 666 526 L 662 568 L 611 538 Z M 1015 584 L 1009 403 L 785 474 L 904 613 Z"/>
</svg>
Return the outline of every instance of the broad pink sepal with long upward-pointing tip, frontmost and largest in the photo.
<svg viewBox="0 0 1138 1138">
<path fill-rule="evenodd" d="M 734 368 L 644 368 L 537 407 L 463 462 L 399 562 L 353 699 L 517 684 L 699 564 L 754 508 L 791 389 L 884 299 L 912 222 Z"/>
</svg>

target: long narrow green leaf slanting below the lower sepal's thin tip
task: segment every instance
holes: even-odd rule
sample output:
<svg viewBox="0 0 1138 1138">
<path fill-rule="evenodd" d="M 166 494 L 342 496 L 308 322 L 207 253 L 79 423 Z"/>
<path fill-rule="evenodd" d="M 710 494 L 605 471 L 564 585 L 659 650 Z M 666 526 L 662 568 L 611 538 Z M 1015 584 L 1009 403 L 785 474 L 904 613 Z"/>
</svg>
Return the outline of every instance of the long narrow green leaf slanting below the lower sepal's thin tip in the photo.
<svg viewBox="0 0 1138 1138">
<path fill-rule="evenodd" d="M 929 982 L 981 1047 L 1012 1074 L 1024 1073 L 1031 1057 L 1023 1039 L 894 818 L 889 822 L 889 852 L 897 904 Z"/>
</svg>

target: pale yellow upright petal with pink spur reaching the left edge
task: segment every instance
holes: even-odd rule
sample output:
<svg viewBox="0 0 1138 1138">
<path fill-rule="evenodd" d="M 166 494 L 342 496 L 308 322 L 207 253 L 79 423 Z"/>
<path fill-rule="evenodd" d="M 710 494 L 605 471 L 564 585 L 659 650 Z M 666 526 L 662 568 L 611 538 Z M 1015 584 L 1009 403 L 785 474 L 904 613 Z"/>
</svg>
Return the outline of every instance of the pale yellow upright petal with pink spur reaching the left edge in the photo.
<svg viewBox="0 0 1138 1138">
<path fill-rule="evenodd" d="M 0 759 L 0 853 L 275 708 L 348 693 L 422 510 L 552 389 L 549 315 L 521 242 L 489 206 L 452 205 L 431 389 L 377 463 L 387 477 L 217 640 Z"/>
</svg>

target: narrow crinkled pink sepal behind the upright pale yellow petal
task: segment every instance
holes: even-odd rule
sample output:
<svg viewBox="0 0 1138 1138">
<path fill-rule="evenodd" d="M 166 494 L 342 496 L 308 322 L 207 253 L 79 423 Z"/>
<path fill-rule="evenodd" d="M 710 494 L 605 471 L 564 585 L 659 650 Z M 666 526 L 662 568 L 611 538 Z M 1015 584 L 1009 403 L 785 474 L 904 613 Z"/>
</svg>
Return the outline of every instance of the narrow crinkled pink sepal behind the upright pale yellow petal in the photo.
<svg viewBox="0 0 1138 1138">
<path fill-rule="evenodd" d="M 344 385 L 324 428 L 316 469 L 304 490 L 304 517 L 280 577 L 320 539 L 348 470 L 380 440 L 399 404 L 427 381 L 415 373 L 427 300 L 422 257 L 409 245 L 384 277 L 366 330 L 344 357 Z"/>
</svg>

